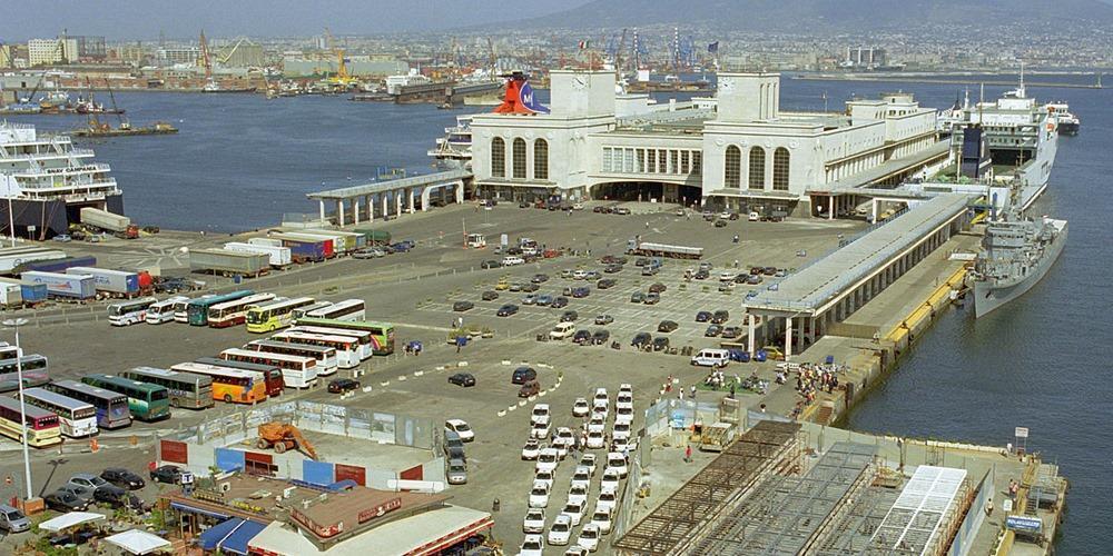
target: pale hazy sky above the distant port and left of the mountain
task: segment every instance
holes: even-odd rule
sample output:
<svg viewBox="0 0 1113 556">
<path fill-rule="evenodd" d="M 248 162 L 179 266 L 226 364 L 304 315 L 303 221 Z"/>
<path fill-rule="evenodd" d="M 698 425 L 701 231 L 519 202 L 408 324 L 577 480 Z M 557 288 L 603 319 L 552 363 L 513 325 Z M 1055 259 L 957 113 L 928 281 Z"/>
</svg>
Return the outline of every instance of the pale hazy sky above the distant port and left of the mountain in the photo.
<svg viewBox="0 0 1113 556">
<path fill-rule="evenodd" d="M 514 21 L 588 0 L 0 0 L 0 42 L 70 34 L 109 39 L 312 36 L 451 29 Z"/>
</svg>

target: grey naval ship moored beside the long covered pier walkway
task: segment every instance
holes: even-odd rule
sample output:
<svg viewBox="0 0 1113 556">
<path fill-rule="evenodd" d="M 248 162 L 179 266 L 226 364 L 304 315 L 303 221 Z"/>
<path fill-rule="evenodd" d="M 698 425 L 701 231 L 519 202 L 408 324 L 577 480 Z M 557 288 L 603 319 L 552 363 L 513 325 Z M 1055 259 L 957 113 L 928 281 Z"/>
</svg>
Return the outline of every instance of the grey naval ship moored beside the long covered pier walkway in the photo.
<svg viewBox="0 0 1113 556">
<path fill-rule="evenodd" d="M 975 267 L 974 316 L 984 317 L 1032 289 L 1063 252 L 1066 230 L 1066 220 L 1047 217 L 991 222 Z"/>
</svg>

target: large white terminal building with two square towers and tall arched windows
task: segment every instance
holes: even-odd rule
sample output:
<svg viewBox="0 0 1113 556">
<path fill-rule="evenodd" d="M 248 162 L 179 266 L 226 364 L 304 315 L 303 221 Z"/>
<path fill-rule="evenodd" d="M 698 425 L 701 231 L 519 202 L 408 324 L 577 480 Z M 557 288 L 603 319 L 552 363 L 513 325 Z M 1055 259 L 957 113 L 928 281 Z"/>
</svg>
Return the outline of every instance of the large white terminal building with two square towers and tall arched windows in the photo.
<svg viewBox="0 0 1113 556">
<path fill-rule="evenodd" d="M 715 99 L 658 105 L 613 71 L 554 70 L 550 113 L 472 117 L 480 197 L 612 199 L 833 218 L 948 157 L 910 93 L 780 109 L 780 75 L 720 72 Z"/>
</svg>

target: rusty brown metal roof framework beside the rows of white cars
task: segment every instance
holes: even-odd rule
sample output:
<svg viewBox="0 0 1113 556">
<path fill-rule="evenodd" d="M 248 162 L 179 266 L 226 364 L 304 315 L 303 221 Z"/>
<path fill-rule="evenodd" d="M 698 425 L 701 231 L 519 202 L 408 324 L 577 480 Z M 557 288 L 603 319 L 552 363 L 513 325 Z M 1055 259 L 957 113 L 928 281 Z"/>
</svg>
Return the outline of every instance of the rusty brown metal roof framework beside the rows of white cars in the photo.
<svg viewBox="0 0 1113 556">
<path fill-rule="evenodd" d="M 620 554 L 677 554 L 709 518 L 761 477 L 791 464 L 800 425 L 760 421 L 638 522 L 613 547 Z"/>
</svg>

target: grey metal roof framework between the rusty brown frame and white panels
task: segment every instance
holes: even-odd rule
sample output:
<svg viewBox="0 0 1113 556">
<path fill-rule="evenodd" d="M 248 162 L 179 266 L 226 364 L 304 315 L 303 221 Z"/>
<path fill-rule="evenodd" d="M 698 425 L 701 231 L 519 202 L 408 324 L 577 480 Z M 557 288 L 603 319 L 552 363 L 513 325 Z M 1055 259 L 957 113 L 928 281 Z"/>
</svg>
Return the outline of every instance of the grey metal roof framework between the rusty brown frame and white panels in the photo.
<svg viewBox="0 0 1113 556">
<path fill-rule="evenodd" d="M 875 473 L 875 447 L 838 443 L 804 476 L 772 477 L 720 517 L 696 542 L 692 555 L 796 555 L 849 505 Z"/>
</svg>

